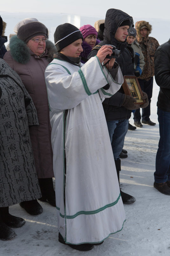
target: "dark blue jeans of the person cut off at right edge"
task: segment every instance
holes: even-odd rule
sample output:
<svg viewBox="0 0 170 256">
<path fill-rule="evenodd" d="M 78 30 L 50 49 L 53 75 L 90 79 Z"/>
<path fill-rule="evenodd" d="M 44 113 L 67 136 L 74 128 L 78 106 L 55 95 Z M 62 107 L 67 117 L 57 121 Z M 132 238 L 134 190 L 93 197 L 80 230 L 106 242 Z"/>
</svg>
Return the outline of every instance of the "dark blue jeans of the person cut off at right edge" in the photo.
<svg viewBox="0 0 170 256">
<path fill-rule="evenodd" d="M 160 128 L 160 141 L 156 154 L 155 182 L 170 181 L 170 112 L 158 108 L 158 121 Z"/>
</svg>

